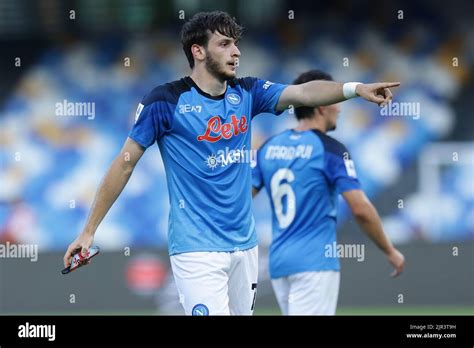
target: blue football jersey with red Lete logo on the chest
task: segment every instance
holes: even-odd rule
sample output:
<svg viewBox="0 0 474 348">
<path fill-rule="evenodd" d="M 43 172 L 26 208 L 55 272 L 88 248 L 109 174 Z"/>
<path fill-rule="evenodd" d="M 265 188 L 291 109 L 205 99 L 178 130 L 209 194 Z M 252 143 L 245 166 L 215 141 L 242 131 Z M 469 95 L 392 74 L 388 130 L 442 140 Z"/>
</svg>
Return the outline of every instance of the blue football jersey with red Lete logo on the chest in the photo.
<svg viewBox="0 0 474 348">
<path fill-rule="evenodd" d="M 248 155 L 252 118 L 275 113 L 286 85 L 246 77 L 211 96 L 190 77 L 152 90 L 129 137 L 163 159 L 170 213 L 170 255 L 245 250 L 257 244 Z"/>
</svg>

